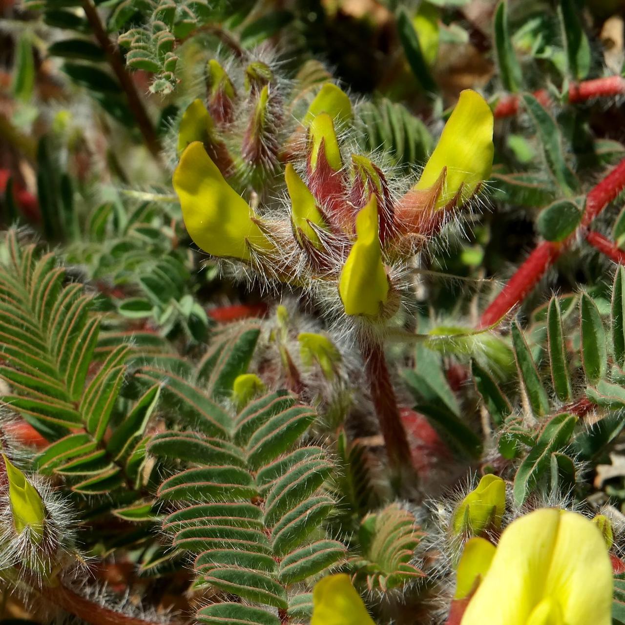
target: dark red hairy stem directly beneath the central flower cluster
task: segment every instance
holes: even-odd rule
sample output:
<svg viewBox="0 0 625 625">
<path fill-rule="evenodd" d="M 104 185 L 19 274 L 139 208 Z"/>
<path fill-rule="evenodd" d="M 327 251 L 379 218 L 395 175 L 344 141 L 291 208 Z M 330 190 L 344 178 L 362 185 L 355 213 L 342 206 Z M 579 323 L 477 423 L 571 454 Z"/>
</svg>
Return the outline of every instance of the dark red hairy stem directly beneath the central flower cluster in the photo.
<svg viewBox="0 0 625 625">
<path fill-rule="evenodd" d="M 399 416 L 384 349 L 379 342 L 366 337 L 361 337 L 360 347 L 389 463 L 396 469 L 407 469 L 412 466 L 410 446 Z"/>
</svg>

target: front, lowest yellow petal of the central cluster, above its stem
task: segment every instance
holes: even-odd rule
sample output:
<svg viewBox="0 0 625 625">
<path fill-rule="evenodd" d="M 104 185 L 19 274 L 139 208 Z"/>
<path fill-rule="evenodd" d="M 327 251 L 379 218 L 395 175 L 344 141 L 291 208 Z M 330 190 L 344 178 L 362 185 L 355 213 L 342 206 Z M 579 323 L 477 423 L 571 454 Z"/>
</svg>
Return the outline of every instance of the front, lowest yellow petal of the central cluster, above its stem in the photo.
<svg viewBox="0 0 625 625">
<path fill-rule="evenodd" d="M 346 314 L 377 317 L 388 299 L 389 281 L 377 229 L 377 201 L 372 195 L 356 215 L 356 242 L 339 279 Z"/>
</svg>

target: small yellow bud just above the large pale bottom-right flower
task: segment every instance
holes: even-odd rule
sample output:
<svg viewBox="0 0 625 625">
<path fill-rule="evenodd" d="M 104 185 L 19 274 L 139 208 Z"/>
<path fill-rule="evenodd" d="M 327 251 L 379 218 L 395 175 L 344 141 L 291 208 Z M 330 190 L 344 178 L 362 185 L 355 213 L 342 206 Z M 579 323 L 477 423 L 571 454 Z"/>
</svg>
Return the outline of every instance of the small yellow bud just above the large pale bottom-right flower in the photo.
<svg viewBox="0 0 625 625">
<path fill-rule="evenodd" d="M 499 528 L 505 509 L 506 482 L 501 477 L 487 474 L 456 508 L 452 528 L 456 534 L 481 534 L 489 526 Z"/>
</svg>

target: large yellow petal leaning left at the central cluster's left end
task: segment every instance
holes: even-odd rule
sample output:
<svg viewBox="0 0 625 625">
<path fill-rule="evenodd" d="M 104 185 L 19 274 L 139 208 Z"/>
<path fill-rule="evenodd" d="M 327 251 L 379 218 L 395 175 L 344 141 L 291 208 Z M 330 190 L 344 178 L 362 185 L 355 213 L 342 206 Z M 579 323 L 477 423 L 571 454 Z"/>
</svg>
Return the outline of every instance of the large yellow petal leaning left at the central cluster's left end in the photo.
<svg viewBox="0 0 625 625">
<path fill-rule="evenodd" d="M 184 151 L 173 183 L 184 225 L 204 251 L 249 261 L 250 245 L 259 251 L 274 249 L 252 221 L 249 204 L 226 182 L 199 141 Z"/>
</svg>

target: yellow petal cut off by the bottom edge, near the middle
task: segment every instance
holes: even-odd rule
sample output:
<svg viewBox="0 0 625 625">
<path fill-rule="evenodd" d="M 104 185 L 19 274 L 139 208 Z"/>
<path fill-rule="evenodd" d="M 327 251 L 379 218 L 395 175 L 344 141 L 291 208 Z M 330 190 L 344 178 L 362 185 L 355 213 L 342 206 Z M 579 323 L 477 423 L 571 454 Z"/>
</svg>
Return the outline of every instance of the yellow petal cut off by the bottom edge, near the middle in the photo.
<svg viewBox="0 0 625 625">
<path fill-rule="evenodd" d="M 311 625 L 375 625 L 349 576 L 324 577 L 312 591 Z"/>
</svg>

